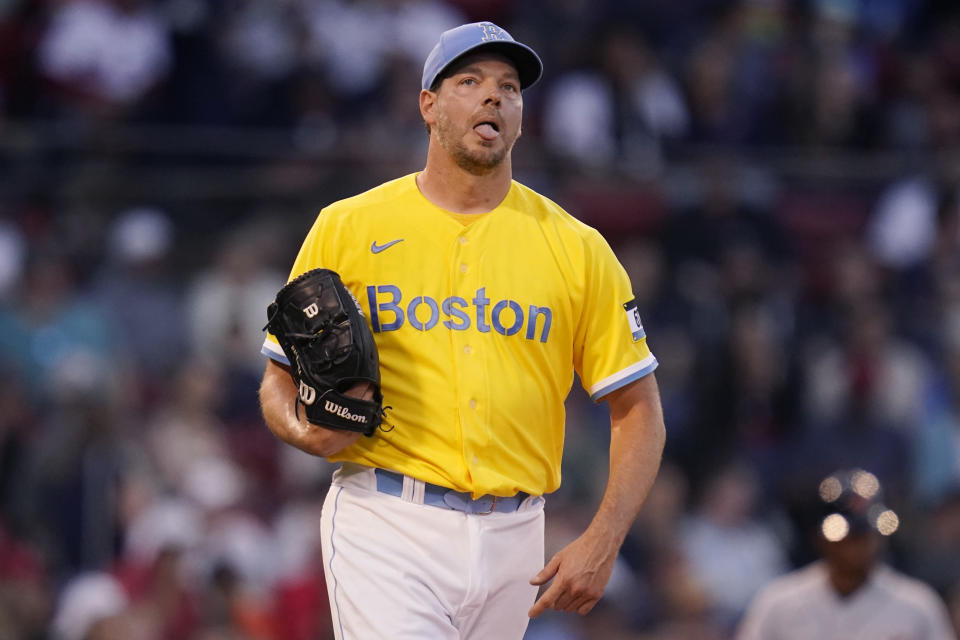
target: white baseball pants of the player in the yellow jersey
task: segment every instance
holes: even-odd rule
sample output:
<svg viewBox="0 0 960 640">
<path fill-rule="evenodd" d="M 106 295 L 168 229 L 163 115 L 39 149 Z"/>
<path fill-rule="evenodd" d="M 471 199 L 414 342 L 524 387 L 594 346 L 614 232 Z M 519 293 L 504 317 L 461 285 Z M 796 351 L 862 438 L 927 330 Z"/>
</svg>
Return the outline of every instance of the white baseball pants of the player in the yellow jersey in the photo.
<svg viewBox="0 0 960 640">
<path fill-rule="evenodd" d="M 457 509 L 491 504 L 433 506 L 462 502 L 440 491 L 359 465 L 334 473 L 321 533 L 337 640 L 523 637 L 543 568 L 543 499 L 466 513 Z"/>
</svg>

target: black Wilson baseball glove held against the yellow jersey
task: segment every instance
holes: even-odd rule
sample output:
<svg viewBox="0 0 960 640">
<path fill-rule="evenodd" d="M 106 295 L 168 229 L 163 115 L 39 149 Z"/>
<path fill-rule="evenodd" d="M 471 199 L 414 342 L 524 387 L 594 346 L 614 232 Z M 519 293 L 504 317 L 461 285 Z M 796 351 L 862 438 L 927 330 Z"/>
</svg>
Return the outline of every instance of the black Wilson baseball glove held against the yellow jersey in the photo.
<svg viewBox="0 0 960 640">
<path fill-rule="evenodd" d="M 291 280 L 267 307 L 267 326 L 290 361 L 307 420 L 366 436 L 383 421 L 380 360 L 360 304 L 329 269 Z M 369 383 L 373 399 L 346 395 Z"/>
</svg>

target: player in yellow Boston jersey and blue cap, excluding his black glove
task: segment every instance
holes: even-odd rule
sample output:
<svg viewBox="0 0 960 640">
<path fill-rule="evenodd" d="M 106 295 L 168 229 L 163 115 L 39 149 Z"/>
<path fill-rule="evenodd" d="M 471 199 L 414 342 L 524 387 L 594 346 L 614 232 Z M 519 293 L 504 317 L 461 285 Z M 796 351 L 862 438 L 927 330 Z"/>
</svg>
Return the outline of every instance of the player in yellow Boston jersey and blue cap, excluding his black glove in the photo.
<svg viewBox="0 0 960 640">
<path fill-rule="evenodd" d="M 336 272 L 369 322 L 380 428 L 306 421 L 289 359 L 264 342 L 268 426 L 342 463 L 322 518 L 339 639 L 506 640 L 547 609 L 586 614 L 657 473 L 657 361 L 627 275 L 594 229 L 512 179 L 522 90 L 541 73 L 495 24 L 444 32 L 423 68 L 424 169 L 329 205 L 304 240 L 291 278 Z M 575 372 L 610 407 L 609 481 L 544 566 Z"/>
</svg>

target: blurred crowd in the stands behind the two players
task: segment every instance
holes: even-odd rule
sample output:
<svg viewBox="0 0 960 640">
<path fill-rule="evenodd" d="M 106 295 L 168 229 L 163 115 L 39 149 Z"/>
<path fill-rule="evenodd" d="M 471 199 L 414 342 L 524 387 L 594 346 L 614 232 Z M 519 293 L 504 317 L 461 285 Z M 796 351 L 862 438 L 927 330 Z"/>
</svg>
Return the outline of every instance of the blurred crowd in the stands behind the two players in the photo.
<svg viewBox="0 0 960 640">
<path fill-rule="evenodd" d="M 266 304 L 317 210 L 421 165 L 423 59 L 479 19 L 544 59 L 518 179 L 629 272 L 668 431 L 604 599 L 527 637 L 731 638 L 854 466 L 900 516 L 887 562 L 960 629 L 955 3 L 0 0 L 0 138 L 270 129 L 331 159 L 319 200 L 207 207 L 68 200 L 99 159 L 0 143 L 0 639 L 333 637 L 332 469 L 262 423 Z M 575 384 L 551 550 L 599 501 L 608 425 Z"/>
</svg>

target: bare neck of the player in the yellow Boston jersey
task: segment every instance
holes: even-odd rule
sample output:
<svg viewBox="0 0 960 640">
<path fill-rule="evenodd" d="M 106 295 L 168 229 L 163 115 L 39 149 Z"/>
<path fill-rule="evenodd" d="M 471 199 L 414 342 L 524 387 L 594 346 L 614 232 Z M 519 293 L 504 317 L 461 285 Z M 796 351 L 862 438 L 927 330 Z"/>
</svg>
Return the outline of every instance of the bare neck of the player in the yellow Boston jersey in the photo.
<svg viewBox="0 0 960 640">
<path fill-rule="evenodd" d="M 420 193 L 433 204 L 454 213 L 487 213 L 507 197 L 513 175 L 509 155 L 479 176 L 439 155 L 428 152 L 427 165 L 417 176 Z"/>
</svg>

